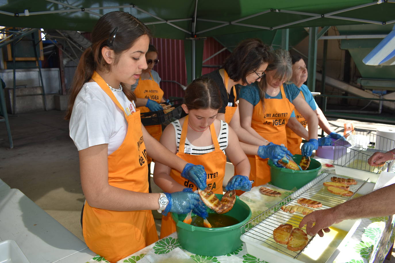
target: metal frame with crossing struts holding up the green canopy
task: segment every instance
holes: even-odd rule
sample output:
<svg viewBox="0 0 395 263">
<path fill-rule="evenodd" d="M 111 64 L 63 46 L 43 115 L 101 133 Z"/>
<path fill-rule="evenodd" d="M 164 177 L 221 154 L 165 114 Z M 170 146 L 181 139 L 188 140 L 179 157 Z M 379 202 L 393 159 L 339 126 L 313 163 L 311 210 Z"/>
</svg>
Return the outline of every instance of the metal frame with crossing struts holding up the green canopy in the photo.
<svg viewBox="0 0 395 263">
<path fill-rule="evenodd" d="M 287 28 L 290 26 L 295 26 L 297 24 L 301 24 L 307 21 L 312 21 L 320 18 L 329 18 L 329 19 L 336 19 L 336 20 L 344 20 L 344 21 L 353 21 L 353 22 L 358 22 L 358 23 L 368 23 L 368 24 L 391 24 L 395 22 L 394 20 L 391 21 L 374 21 L 374 20 L 368 20 L 368 19 L 359 19 L 355 17 L 350 17 L 350 16 L 339 16 L 341 13 L 345 13 L 348 11 L 352 10 L 357 10 L 361 9 L 364 7 L 369 7 L 369 6 L 374 6 L 377 4 L 389 4 L 389 3 L 395 3 L 395 0 L 377 0 L 371 3 L 366 3 L 366 4 L 361 4 L 357 6 L 352 6 L 348 8 L 343 8 L 339 9 L 336 11 L 331 11 L 329 13 L 311 13 L 311 12 L 304 12 L 304 11 L 293 11 L 293 10 L 286 10 L 286 9 L 267 9 L 265 11 L 260 11 L 258 13 L 248 15 L 245 17 L 241 17 L 239 19 L 235 19 L 232 21 L 219 21 L 219 20 L 214 20 L 214 19 L 204 19 L 204 18 L 199 18 L 198 14 L 198 0 L 195 0 L 195 5 L 194 5 L 194 12 L 193 12 L 193 17 L 188 17 L 188 18 L 182 18 L 182 19 L 163 19 L 153 13 L 150 13 L 149 11 L 134 5 L 134 4 L 128 4 L 128 5 L 118 5 L 118 6 L 98 6 L 98 7 L 77 7 L 73 6 L 70 4 L 62 3 L 60 1 L 56 0 L 43 0 L 46 2 L 51 2 L 54 4 L 58 4 L 62 7 L 68 7 L 67 9 L 60 9 L 60 10 L 43 10 L 43 11 L 34 11 L 30 12 L 29 10 L 24 10 L 24 12 L 19 12 L 19 13 L 11 13 L 8 11 L 2 11 L 0 10 L 0 14 L 3 15 L 8 15 L 8 16 L 13 16 L 13 17 L 27 17 L 27 16 L 32 16 L 32 15 L 46 15 L 46 14 L 54 14 L 54 13 L 69 13 L 69 12 L 86 12 L 92 15 L 96 15 L 98 17 L 101 17 L 102 14 L 94 12 L 94 10 L 106 10 L 106 9 L 125 9 L 125 8 L 133 8 L 141 13 L 144 13 L 146 15 L 149 15 L 150 17 L 157 19 L 158 21 L 154 22 L 145 22 L 146 25 L 154 25 L 154 24 L 168 24 L 178 30 L 181 30 L 182 32 L 190 35 L 190 37 L 186 37 L 185 39 L 190 39 L 192 41 L 191 45 L 191 54 L 190 54 L 190 59 L 191 59 L 191 65 L 187 65 L 187 68 L 190 68 L 191 70 L 191 75 L 188 76 L 188 81 L 196 78 L 196 76 L 199 76 L 201 74 L 200 67 L 197 65 L 197 60 L 196 60 L 196 40 L 198 40 L 199 37 L 204 37 L 202 35 L 203 33 L 207 32 L 213 32 L 213 30 L 216 30 L 218 28 L 223 28 L 226 26 L 230 25 L 236 25 L 236 26 L 241 26 L 245 28 L 255 28 L 258 30 L 278 30 L 278 29 L 285 29 L 282 31 L 282 48 L 288 49 L 288 37 L 289 33 Z M 299 19 L 297 21 L 293 22 L 288 22 L 284 24 L 280 24 L 277 26 L 273 27 L 268 27 L 268 26 L 261 26 L 261 25 L 256 25 L 256 24 L 247 24 L 247 23 L 241 23 L 241 21 L 245 21 L 247 19 L 253 18 L 253 17 L 258 17 L 258 16 L 263 16 L 265 14 L 271 13 L 271 12 L 276 12 L 276 13 L 287 13 L 287 14 L 294 14 L 294 15 L 302 15 L 302 16 L 308 16 L 308 18 L 305 19 Z M 192 21 L 191 25 L 189 28 L 182 28 L 181 26 L 177 26 L 174 24 L 174 22 L 181 22 L 181 21 Z M 198 22 L 212 22 L 212 23 L 218 23 L 219 25 L 217 26 L 212 26 L 210 28 L 206 28 L 204 30 L 200 30 L 196 32 L 196 25 Z M 327 22 L 328 23 L 328 22 Z M 327 27 L 325 27 L 327 28 Z M 325 29 L 324 28 L 324 29 Z M 308 65 L 309 65 L 309 80 L 308 80 L 308 86 L 312 91 L 315 90 L 315 65 L 316 65 L 316 48 L 317 48 L 317 41 L 320 39 L 321 35 L 323 35 L 326 30 L 322 30 L 320 33 L 317 32 L 316 27 L 311 27 L 310 28 L 310 41 L 309 41 L 309 56 L 308 56 Z M 214 54 L 215 55 L 215 54 Z M 200 62 L 201 60 L 199 60 Z"/>
</svg>

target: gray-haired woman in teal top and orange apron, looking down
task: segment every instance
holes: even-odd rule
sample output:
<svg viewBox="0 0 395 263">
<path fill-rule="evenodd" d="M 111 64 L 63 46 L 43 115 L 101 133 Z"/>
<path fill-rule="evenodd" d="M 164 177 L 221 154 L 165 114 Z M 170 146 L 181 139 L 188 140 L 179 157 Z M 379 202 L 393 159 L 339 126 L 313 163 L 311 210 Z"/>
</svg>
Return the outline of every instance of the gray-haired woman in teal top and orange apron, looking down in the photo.
<svg viewBox="0 0 395 263">
<path fill-rule="evenodd" d="M 265 70 L 260 83 L 240 90 L 240 122 L 248 132 L 255 132 L 269 140 L 270 144 L 287 147 L 286 124 L 296 108 L 307 120 L 309 140 L 302 146 L 302 154 L 310 156 L 318 147 L 318 119 L 297 88 L 284 91 L 283 83 L 292 77 L 291 56 L 287 50 L 273 52 L 273 62 Z M 274 148 L 274 151 L 277 149 Z M 290 152 L 288 151 L 290 154 Z M 290 154 L 291 155 L 291 154 Z M 268 159 L 247 155 L 251 164 L 250 180 L 255 186 L 271 180 Z M 275 163 L 276 165 L 279 165 Z"/>
</svg>

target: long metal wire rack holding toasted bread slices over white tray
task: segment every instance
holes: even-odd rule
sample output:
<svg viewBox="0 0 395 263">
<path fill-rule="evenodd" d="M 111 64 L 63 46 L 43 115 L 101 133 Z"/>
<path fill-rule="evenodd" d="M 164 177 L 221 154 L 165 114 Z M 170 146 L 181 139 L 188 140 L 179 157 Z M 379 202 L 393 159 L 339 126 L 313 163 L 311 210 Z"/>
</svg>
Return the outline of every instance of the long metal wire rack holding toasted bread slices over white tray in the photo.
<svg viewBox="0 0 395 263">
<path fill-rule="evenodd" d="M 330 182 L 331 177 L 339 177 L 339 175 L 331 174 L 331 173 L 322 173 L 319 177 L 312 180 L 310 183 L 295 191 L 290 196 L 284 198 L 282 201 L 276 203 L 271 208 L 267 209 L 265 212 L 256 216 L 244 226 L 241 226 L 240 230 L 243 235 L 246 235 L 252 239 L 255 239 L 257 242 L 264 242 L 267 247 L 279 251 L 283 254 L 286 254 L 290 257 L 297 258 L 303 250 L 299 252 L 293 252 L 287 249 L 286 245 L 278 244 L 273 239 L 273 230 L 277 228 L 281 224 L 291 224 L 294 228 L 299 228 L 299 223 L 301 222 L 304 215 L 300 213 L 286 213 L 280 209 L 282 205 L 299 205 L 297 200 L 299 198 L 307 198 L 315 201 L 319 201 L 322 203 L 322 207 L 311 208 L 312 210 L 320 210 L 327 209 L 344 203 L 347 200 L 353 198 L 355 193 L 365 185 L 367 181 L 355 179 L 357 181 L 356 185 L 350 185 L 350 191 L 354 192 L 354 194 L 350 197 L 346 196 L 338 196 L 335 194 L 331 194 L 328 192 L 326 187 L 322 184 L 324 182 Z M 306 226 L 302 228 L 306 232 Z M 311 237 L 307 243 L 312 241 L 314 237 Z M 307 247 L 306 246 L 306 247 Z M 306 248 L 305 247 L 305 248 Z"/>
</svg>

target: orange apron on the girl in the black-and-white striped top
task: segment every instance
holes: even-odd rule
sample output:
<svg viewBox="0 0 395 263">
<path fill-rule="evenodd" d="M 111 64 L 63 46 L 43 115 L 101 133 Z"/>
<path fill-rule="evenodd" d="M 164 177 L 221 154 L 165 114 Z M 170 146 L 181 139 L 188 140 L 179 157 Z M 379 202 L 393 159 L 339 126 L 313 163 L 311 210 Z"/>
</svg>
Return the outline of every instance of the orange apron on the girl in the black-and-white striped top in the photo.
<svg viewBox="0 0 395 263">
<path fill-rule="evenodd" d="M 202 155 L 190 155 L 184 153 L 185 138 L 188 131 L 188 115 L 185 117 L 184 124 L 182 125 L 180 147 L 177 156 L 186 162 L 192 164 L 200 164 L 204 166 L 207 172 L 207 186 L 213 189 L 215 194 L 222 194 L 222 181 L 225 176 L 226 156 L 220 149 L 218 144 L 217 134 L 215 132 L 214 123 L 210 125 L 211 140 L 213 140 L 214 151 Z M 192 188 L 193 191 L 198 190 L 198 187 L 188 179 L 181 177 L 181 173 L 177 170 L 171 169 L 170 176 L 180 185 Z M 164 238 L 176 231 L 175 222 L 171 218 L 170 213 L 167 216 L 162 216 L 162 226 L 160 228 L 160 238 Z"/>
</svg>

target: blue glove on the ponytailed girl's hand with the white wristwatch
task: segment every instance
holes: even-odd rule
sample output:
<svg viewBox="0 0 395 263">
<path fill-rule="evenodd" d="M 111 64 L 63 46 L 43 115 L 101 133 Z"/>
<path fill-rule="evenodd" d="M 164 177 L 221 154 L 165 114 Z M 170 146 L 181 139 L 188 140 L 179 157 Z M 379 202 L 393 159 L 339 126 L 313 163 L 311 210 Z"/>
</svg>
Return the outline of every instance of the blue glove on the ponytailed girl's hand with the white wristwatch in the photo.
<svg viewBox="0 0 395 263">
<path fill-rule="evenodd" d="M 174 192 L 165 193 L 169 203 L 167 204 L 162 215 L 167 215 L 169 212 L 176 214 L 186 214 L 194 209 L 200 201 L 200 196 L 191 192 Z"/>
</svg>

